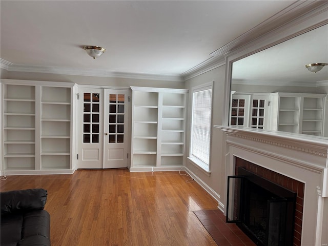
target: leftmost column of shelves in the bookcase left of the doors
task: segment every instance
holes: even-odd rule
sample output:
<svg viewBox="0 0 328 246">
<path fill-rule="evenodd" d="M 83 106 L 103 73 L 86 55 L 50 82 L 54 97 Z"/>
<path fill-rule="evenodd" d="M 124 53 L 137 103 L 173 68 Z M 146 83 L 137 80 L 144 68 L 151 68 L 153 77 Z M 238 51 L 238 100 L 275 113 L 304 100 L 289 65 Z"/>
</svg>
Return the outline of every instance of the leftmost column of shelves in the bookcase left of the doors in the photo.
<svg viewBox="0 0 328 246">
<path fill-rule="evenodd" d="M 35 168 L 35 88 L 6 85 L 3 90 L 4 169 Z"/>
</svg>

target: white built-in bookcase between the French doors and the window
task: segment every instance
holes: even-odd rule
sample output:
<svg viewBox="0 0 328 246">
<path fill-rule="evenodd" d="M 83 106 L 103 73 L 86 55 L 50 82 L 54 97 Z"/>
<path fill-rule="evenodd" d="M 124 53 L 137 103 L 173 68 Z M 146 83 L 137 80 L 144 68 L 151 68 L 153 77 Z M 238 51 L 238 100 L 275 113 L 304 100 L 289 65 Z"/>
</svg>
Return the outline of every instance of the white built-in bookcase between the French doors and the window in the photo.
<svg viewBox="0 0 328 246">
<path fill-rule="evenodd" d="M 130 171 L 178 170 L 185 153 L 188 90 L 131 87 Z"/>
</svg>

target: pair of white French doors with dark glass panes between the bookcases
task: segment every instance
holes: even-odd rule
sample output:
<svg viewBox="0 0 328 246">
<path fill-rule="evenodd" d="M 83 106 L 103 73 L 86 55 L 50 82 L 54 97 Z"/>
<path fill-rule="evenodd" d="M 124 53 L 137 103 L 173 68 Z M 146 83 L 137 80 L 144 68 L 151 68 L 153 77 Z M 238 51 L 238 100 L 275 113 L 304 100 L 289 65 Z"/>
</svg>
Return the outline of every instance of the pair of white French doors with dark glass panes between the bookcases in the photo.
<svg viewBox="0 0 328 246">
<path fill-rule="evenodd" d="M 79 89 L 77 168 L 128 166 L 129 91 Z"/>
</svg>

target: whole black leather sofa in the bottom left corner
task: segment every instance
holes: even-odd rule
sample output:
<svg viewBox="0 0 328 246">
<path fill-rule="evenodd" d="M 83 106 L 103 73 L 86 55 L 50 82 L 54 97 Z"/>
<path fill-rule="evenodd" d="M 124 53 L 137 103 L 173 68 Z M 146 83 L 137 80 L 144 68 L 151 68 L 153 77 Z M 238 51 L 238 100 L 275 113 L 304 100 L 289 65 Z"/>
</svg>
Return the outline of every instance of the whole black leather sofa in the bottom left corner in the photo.
<svg viewBox="0 0 328 246">
<path fill-rule="evenodd" d="M 17 190 L 0 195 L 1 246 L 51 245 L 50 215 L 44 210 L 47 190 Z"/>
</svg>

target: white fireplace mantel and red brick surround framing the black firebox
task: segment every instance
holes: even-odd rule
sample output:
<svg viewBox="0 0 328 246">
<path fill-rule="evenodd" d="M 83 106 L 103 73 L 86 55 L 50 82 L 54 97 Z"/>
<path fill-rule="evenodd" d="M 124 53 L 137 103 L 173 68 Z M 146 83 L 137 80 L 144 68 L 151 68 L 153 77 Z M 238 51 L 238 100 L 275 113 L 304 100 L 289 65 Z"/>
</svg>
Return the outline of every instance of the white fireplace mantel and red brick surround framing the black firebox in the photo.
<svg viewBox="0 0 328 246">
<path fill-rule="evenodd" d="M 259 129 L 215 128 L 226 133 L 222 167 L 226 184 L 227 177 L 242 166 L 297 192 L 294 245 L 328 245 L 327 139 Z M 219 203 L 219 208 L 226 212 L 224 204 L 226 200 Z"/>
</svg>

